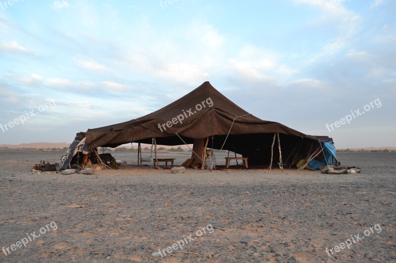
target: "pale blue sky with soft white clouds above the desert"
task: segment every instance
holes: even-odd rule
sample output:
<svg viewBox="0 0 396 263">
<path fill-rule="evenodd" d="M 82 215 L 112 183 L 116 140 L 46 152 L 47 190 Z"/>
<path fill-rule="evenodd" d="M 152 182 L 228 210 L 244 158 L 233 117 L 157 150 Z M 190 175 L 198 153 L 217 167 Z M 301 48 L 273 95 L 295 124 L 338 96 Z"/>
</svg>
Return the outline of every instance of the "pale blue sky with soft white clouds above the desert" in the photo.
<svg viewBox="0 0 396 263">
<path fill-rule="evenodd" d="M 395 147 L 395 13 L 395 0 L 0 0 L 0 144 L 71 143 L 209 81 L 337 148 Z"/>
</svg>

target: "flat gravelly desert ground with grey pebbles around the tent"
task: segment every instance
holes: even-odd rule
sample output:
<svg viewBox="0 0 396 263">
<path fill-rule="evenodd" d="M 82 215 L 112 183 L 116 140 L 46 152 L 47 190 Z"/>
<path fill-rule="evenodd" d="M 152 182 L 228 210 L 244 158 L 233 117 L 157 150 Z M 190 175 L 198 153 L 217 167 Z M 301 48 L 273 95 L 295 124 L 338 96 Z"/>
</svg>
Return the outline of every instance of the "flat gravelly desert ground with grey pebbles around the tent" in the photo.
<svg viewBox="0 0 396 263">
<path fill-rule="evenodd" d="M 1 262 L 396 262 L 395 153 L 340 153 L 358 175 L 29 172 L 60 155 L 0 151 Z"/>
</svg>

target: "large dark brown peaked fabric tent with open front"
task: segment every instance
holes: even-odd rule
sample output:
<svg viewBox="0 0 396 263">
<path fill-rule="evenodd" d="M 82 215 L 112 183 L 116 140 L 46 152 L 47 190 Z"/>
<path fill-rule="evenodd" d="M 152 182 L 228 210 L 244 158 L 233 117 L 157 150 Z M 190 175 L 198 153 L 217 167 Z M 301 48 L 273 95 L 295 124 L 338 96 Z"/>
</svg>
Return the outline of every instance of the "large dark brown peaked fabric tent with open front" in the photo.
<svg viewBox="0 0 396 263">
<path fill-rule="evenodd" d="M 261 120 L 227 99 L 208 81 L 162 109 L 89 129 L 85 136 L 89 150 L 153 141 L 165 146 L 193 144 L 192 158 L 201 164 L 208 147 L 242 154 L 248 157 L 249 165 L 271 166 L 276 161 L 291 167 L 304 159 L 306 166 L 315 158 L 337 165 L 335 150 L 330 149 L 330 145 L 334 148 L 331 138 L 306 135 L 281 123 Z"/>
</svg>

